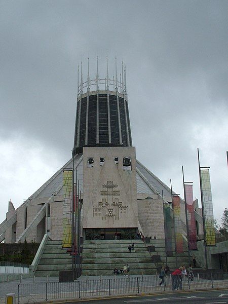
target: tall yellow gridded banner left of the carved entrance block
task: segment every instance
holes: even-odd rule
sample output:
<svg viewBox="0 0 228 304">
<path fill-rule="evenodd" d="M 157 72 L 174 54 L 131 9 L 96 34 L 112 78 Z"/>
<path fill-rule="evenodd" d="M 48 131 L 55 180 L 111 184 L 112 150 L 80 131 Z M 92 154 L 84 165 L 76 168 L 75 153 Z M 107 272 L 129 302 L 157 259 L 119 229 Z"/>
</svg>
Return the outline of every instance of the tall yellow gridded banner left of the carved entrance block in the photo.
<svg viewBox="0 0 228 304">
<path fill-rule="evenodd" d="M 72 247 L 72 177 L 72 170 L 63 171 L 63 248 Z"/>
</svg>

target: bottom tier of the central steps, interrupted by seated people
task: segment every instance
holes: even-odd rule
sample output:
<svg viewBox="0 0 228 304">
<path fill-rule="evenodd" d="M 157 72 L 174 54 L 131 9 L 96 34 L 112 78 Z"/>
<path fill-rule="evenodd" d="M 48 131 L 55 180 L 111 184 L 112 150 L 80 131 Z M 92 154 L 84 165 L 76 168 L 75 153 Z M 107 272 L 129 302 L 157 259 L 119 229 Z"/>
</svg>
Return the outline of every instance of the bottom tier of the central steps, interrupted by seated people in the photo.
<svg viewBox="0 0 228 304">
<path fill-rule="evenodd" d="M 143 270 L 132 269 L 130 275 L 154 275 L 157 273 L 157 269 L 148 268 Z M 97 270 L 82 270 L 82 276 L 110 276 L 113 275 L 113 270 L 97 269 Z M 124 277 L 124 275 L 118 275 L 118 278 Z"/>
</svg>

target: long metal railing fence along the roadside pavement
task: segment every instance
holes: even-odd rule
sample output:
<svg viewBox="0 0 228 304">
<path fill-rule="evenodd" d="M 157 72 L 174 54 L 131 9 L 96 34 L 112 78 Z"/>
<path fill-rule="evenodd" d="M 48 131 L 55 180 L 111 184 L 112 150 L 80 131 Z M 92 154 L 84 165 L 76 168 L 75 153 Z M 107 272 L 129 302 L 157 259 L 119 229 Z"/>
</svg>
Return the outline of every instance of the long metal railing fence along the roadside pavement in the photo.
<svg viewBox="0 0 228 304">
<path fill-rule="evenodd" d="M 19 284 L 17 303 L 41 302 L 54 299 L 90 298 L 97 296 L 137 294 L 141 292 L 164 292 L 172 290 L 173 277 L 165 277 L 165 284 L 159 285 L 158 275 L 116 276 L 111 279 L 77 280 L 59 283 Z M 193 280 L 182 278 L 177 289 L 228 288 L 228 276 L 223 273 L 197 274 Z"/>
</svg>

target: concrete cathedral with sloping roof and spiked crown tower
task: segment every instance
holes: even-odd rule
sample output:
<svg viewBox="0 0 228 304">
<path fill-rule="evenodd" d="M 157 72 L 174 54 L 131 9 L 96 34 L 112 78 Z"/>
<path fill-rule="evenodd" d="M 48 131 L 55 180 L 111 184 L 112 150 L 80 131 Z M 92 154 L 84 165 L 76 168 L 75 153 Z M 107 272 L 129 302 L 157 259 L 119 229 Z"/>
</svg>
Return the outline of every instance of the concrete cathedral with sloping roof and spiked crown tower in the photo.
<svg viewBox="0 0 228 304">
<path fill-rule="evenodd" d="M 117 63 L 116 63 L 117 70 Z M 86 91 L 86 92 L 85 92 Z M 9 202 L 0 225 L 0 241 L 41 243 L 45 234 L 62 240 L 63 170 L 74 167 L 81 193 L 81 237 L 84 240 L 134 239 L 138 231 L 151 239 L 164 239 L 163 201 L 171 208 L 171 189 L 136 160 L 132 146 L 126 89 L 126 71 L 109 79 L 97 75 L 78 84 L 73 156 L 21 206 Z M 162 198 L 163 193 L 163 198 Z M 196 206 L 197 208 L 197 206 Z M 196 209 L 197 233 L 202 217 Z M 186 238 L 184 202 L 182 234 Z M 173 226 L 170 226 L 173 231 Z"/>
</svg>

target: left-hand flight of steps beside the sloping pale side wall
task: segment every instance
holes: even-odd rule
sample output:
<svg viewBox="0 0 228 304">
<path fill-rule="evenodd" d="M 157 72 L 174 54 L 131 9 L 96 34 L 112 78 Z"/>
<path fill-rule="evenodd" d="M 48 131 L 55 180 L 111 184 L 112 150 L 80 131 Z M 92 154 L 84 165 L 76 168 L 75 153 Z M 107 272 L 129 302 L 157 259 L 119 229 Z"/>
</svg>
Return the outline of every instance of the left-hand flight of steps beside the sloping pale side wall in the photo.
<svg viewBox="0 0 228 304">
<path fill-rule="evenodd" d="M 72 269 L 72 258 L 66 249 L 62 248 L 62 241 L 48 240 L 35 271 L 37 277 L 58 277 L 59 271 Z"/>
</svg>

